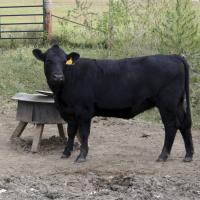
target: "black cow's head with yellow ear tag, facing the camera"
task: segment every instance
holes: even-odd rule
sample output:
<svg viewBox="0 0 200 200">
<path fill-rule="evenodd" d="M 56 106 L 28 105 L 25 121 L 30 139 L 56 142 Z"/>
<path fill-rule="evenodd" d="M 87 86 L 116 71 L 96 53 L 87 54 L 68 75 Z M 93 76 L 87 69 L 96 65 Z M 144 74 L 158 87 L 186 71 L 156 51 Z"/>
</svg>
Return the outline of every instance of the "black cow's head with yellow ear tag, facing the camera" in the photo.
<svg viewBox="0 0 200 200">
<path fill-rule="evenodd" d="M 44 53 L 40 49 L 34 49 L 33 55 L 44 62 L 44 73 L 51 88 L 57 88 L 64 83 L 65 67 L 75 64 L 80 57 L 75 52 L 66 54 L 57 44 Z"/>
</svg>

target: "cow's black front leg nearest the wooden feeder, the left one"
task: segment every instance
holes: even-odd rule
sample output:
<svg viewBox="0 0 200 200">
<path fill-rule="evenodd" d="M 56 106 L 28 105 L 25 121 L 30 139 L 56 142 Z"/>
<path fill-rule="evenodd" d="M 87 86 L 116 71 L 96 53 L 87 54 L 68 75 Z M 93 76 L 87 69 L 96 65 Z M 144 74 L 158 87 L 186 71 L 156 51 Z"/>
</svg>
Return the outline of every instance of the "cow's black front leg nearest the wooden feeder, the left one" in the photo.
<svg viewBox="0 0 200 200">
<path fill-rule="evenodd" d="M 63 152 L 61 158 L 68 158 L 71 155 L 74 147 L 74 138 L 76 136 L 76 132 L 78 130 L 78 124 L 76 121 L 68 122 L 67 133 L 68 133 L 68 141 Z"/>
</svg>

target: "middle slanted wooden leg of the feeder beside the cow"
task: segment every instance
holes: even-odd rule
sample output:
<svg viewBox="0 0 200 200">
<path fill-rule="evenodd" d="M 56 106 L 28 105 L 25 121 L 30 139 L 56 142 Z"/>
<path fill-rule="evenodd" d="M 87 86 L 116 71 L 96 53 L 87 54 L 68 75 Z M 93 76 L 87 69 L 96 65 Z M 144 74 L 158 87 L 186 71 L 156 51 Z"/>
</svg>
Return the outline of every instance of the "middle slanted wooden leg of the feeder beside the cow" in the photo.
<svg viewBox="0 0 200 200">
<path fill-rule="evenodd" d="M 39 150 L 39 145 L 42 138 L 43 129 L 44 129 L 44 124 L 36 125 L 36 128 L 34 130 L 34 136 L 33 136 L 33 144 L 31 147 L 31 152 L 33 153 L 37 153 Z"/>
</svg>

